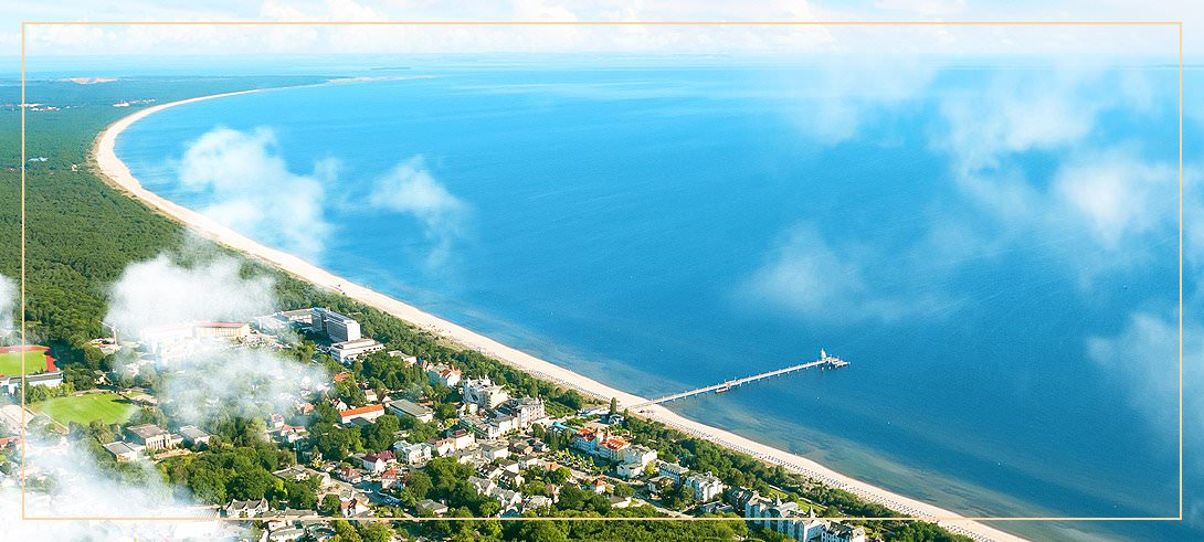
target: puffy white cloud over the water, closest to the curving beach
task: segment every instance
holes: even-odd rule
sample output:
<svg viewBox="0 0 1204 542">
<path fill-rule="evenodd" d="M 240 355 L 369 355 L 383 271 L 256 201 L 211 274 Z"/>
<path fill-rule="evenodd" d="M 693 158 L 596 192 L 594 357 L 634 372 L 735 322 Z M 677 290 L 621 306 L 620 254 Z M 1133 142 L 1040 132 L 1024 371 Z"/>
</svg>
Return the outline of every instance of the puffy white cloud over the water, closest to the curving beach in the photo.
<svg viewBox="0 0 1204 542">
<path fill-rule="evenodd" d="M 323 211 L 330 164 L 293 173 L 272 130 L 217 128 L 189 143 L 178 164 L 185 189 L 211 195 L 214 220 L 302 258 L 319 258 L 331 225 Z"/>
</svg>

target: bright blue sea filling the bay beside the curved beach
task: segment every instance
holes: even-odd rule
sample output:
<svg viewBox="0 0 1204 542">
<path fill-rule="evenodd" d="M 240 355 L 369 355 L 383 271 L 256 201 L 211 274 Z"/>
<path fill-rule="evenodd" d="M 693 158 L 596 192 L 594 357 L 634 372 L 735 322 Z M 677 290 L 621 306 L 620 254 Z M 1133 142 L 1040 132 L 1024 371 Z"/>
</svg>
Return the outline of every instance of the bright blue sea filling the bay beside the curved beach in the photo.
<svg viewBox="0 0 1204 542">
<path fill-rule="evenodd" d="M 970 516 L 1179 513 L 1175 70 L 380 67 L 348 75 L 431 77 L 175 107 L 118 155 L 253 237 L 644 396 L 824 348 L 851 365 L 669 406 L 873 484 Z"/>
</svg>

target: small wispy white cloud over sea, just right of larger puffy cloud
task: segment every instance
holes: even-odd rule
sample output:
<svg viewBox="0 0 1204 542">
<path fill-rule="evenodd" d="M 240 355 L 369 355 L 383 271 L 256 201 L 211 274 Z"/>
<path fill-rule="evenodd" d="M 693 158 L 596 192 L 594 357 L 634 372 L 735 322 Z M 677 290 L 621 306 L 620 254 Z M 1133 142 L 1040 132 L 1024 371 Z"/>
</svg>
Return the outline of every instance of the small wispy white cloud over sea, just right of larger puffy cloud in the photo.
<svg viewBox="0 0 1204 542">
<path fill-rule="evenodd" d="M 368 202 L 421 223 L 426 238 L 435 245 L 427 255 L 430 266 L 443 264 L 455 241 L 465 235 L 468 206 L 435 179 L 423 157 L 402 161 L 378 178 Z"/>
</svg>

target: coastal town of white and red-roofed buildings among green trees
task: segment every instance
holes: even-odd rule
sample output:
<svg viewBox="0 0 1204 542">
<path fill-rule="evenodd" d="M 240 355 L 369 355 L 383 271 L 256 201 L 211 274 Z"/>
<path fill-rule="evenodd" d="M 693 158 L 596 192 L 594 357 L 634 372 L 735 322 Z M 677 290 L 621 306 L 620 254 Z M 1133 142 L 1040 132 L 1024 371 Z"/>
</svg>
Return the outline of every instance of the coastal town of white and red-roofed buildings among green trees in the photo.
<svg viewBox="0 0 1204 542">
<path fill-rule="evenodd" d="M 35 354 L 26 360 L 45 358 L 47 370 L 26 369 L 24 382 L 13 376 L 4 381 L 2 485 L 20 483 L 14 452 L 23 435 L 49 442 L 40 453 L 82 436 L 93 444 L 84 450 L 118 471 L 154 465 L 169 478 L 183 472 L 179 482 L 201 501 L 195 512 L 225 518 L 226 535 L 235 538 L 321 541 L 338 536 L 340 529 L 359 529 L 364 540 L 438 540 L 452 537 L 455 528 L 418 519 L 631 509 L 635 517 L 744 518 L 749 536 L 873 540 L 860 525 L 825 519 L 836 513 L 816 502 L 691 469 L 698 461 L 666 453 L 669 443 L 635 429 L 636 419 L 614 400 L 607 405 L 572 393 L 571 400 L 532 396 L 488 375 L 390 349 L 366 336 L 356 319 L 327 308 L 249 322 L 173 323 L 130 337 L 114 331 L 92 342 L 104 361 L 87 375 L 92 382 L 55 367 L 46 347 L 5 350 Z M 158 383 L 172 378 L 181 359 L 224 349 L 305 355 L 305 363 L 327 367 L 330 378 L 307 382 L 287 408 L 264 412 L 237 430 L 175 417 L 181 406 L 160 402 Z M 24 413 L 17 403 L 22 391 Z M 96 405 L 99 397 L 126 406 L 126 414 L 110 423 L 64 414 Z M 18 431 L 22 422 L 24 434 Z M 220 488 L 206 484 L 211 473 L 199 465 L 255 441 L 267 443 L 260 449 L 275 450 L 264 461 L 271 479 L 241 479 L 240 473 Z M 26 489 L 54 475 L 26 469 Z M 36 503 L 51 494 L 34 490 L 30 499 Z"/>
</svg>

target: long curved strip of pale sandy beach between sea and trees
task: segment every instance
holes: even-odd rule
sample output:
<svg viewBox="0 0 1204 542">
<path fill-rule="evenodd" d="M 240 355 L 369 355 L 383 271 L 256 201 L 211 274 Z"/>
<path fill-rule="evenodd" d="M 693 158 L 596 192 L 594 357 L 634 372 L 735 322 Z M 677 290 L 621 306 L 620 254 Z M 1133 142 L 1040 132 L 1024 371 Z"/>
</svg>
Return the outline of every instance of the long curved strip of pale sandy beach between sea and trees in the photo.
<svg viewBox="0 0 1204 542">
<path fill-rule="evenodd" d="M 319 83 L 323 84 L 323 83 Z M 327 83 L 329 84 L 329 83 Z M 648 399 L 630 394 L 601 382 L 578 375 L 568 369 L 555 365 L 550 361 L 536 358 L 525 352 L 510 348 L 484 335 L 477 334 L 459 324 L 444 320 L 439 317 L 424 312 L 414 306 L 407 305 L 396 299 L 374 291 L 370 288 L 355 284 L 330 271 L 313 265 L 299 257 L 260 245 L 203 214 L 169 201 L 142 187 L 129 167 L 117 158 L 117 137 L 123 130 L 134 123 L 154 114 L 159 111 L 199 101 L 213 100 L 218 98 L 235 96 L 242 94 L 259 93 L 273 89 L 252 89 L 232 93 L 213 94 L 207 96 L 190 98 L 166 104 L 159 104 L 144 110 L 136 111 L 117 122 L 110 124 L 98 135 L 93 143 L 90 158 L 95 160 L 101 177 L 111 187 L 141 201 L 153 211 L 171 218 L 197 235 L 201 235 L 224 247 L 237 251 L 256 261 L 265 263 L 288 272 L 302 281 L 309 282 L 319 288 L 331 289 L 341 293 L 364 305 L 372 306 L 388 314 L 400 318 L 414 326 L 431 331 L 443 338 L 454 341 L 466 348 L 472 348 L 485 355 L 497 359 L 512 367 L 527 372 L 537 378 L 550 381 L 557 385 L 576 389 L 578 393 L 608 401 L 615 397 L 620 407 L 647 402 Z M 641 408 L 639 416 L 650 420 L 660 422 L 667 426 L 677 429 L 694 437 L 704 438 L 719 446 L 742 452 L 771 465 L 798 472 L 809 478 L 818 479 L 827 485 L 846 490 L 858 497 L 886 506 L 913 518 L 936 522 L 940 526 L 952 532 L 969 536 L 981 541 L 1022 541 L 1019 536 L 991 528 L 974 519 L 954 513 L 951 511 L 928 505 L 915 499 L 910 499 L 893 491 L 870 485 L 852 477 L 836 472 L 819 463 L 801 455 L 777 449 L 766 444 L 754 442 L 746 437 L 736 435 L 719 428 L 713 428 L 700 422 L 685 418 L 662 405 L 645 406 Z M 979 518 L 990 519 L 990 518 Z"/>
</svg>

